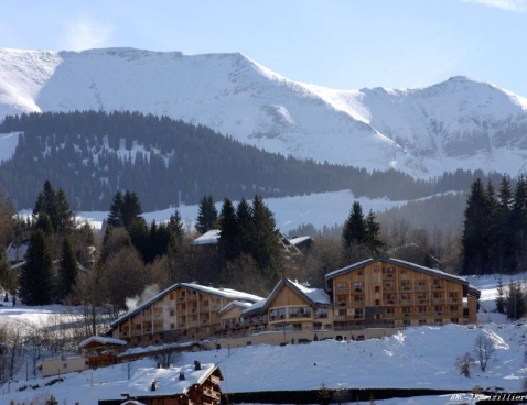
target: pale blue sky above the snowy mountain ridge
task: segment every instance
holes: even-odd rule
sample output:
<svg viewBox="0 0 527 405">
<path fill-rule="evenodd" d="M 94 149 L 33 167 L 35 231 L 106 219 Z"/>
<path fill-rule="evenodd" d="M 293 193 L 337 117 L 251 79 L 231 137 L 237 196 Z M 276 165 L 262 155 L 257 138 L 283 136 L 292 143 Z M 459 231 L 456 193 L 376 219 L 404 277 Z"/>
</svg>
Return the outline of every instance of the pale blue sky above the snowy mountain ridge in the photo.
<svg viewBox="0 0 527 405">
<path fill-rule="evenodd" d="M 426 87 L 469 76 L 527 97 L 527 0 L 17 0 L 0 47 L 240 52 L 298 81 Z"/>
</svg>

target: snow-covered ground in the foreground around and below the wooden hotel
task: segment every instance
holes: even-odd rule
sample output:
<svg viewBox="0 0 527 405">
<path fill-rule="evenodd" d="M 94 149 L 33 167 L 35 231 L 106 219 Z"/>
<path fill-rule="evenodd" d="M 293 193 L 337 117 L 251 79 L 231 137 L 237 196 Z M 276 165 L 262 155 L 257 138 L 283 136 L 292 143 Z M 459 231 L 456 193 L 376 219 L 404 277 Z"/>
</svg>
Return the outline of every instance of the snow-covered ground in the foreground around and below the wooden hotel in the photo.
<svg viewBox="0 0 527 405">
<path fill-rule="evenodd" d="M 525 280 L 527 275 L 514 276 Z M 509 277 L 504 277 L 504 285 Z M 225 380 L 223 392 L 318 390 L 322 384 L 330 388 L 355 387 L 400 387 L 400 388 L 444 388 L 466 391 L 475 385 L 498 386 L 507 392 L 521 392 L 527 380 L 526 326 L 523 322 L 508 322 L 494 310 L 497 278 L 494 276 L 470 277 L 471 284 L 482 289 L 482 313 L 475 326 L 447 325 L 443 327 L 408 328 L 389 338 L 366 341 L 334 340 L 318 341 L 310 344 L 249 346 L 217 351 L 184 353 L 178 366 L 202 363 L 217 363 Z M 14 308 L 0 307 L 3 319 L 23 319 L 24 322 L 40 322 L 42 317 L 61 311 L 60 306 L 29 308 L 17 305 Z M 454 366 L 456 357 L 474 350 L 474 340 L 480 335 L 490 337 L 496 348 L 495 355 L 481 372 L 478 364 L 471 368 L 471 376 L 460 374 Z M 152 368 L 153 360 L 138 361 L 133 365 L 136 375 Z M 127 368 L 118 364 L 82 373 L 62 375 L 64 382 L 44 386 L 47 379 L 25 381 L 25 369 L 18 381 L 0 386 L 0 404 L 9 401 L 29 402 L 53 394 L 60 404 L 97 404 L 97 401 L 118 398 L 127 391 L 130 381 Z M 133 380 L 133 375 L 132 379 Z M 22 385 L 35 385 L 36 390 L 17 391 Z M 394 398 L 377 402 L 380 404 L 447 404 L 450 396 L 428 396 Z M 315 403 L 315 401 L 313 402 Z"/>
</svg>

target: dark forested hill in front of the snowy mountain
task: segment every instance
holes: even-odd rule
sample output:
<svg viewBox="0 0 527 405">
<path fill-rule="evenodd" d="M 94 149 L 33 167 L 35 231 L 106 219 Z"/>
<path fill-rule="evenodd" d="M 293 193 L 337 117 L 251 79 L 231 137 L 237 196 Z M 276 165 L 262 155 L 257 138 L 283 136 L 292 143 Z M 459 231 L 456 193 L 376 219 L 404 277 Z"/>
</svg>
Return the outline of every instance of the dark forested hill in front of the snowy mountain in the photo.
<svg viewBox="0 0 527 405">
<path fill-rule="evenodd" d="M 430 180 L 389 169 L 332 165 L 266 153 L 204 125 L 139 112 L 45 112 L 8 116 L 0 132 L 20 132 L 0 185 L 15 209 L 31 207 L 45 180 L 76 210 L 105 210 L 118 190 L 135 189 L 147 210 L 216 199 L 265 198 L 351 189 L 358 198 L 412 199 L 463 190 L 481 171 Z"/>
</svg>

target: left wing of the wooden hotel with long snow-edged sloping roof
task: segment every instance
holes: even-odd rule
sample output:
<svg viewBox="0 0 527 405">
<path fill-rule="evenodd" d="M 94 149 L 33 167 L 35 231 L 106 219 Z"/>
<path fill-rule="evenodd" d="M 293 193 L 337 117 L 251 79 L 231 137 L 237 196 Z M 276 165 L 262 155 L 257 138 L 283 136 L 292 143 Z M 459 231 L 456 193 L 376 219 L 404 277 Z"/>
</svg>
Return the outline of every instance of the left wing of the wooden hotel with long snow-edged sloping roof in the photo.
<svg viewBox="0 0 527 405">
<path fill-rule="evenodd" d="M 222 310 L 228 304 L 250 305 L 261 299 L 229 288 L 174 284 L 114 321 L 107 335 L 125 340 L 129 347 L 206 338 L 222 329 Z"/>
</svg>

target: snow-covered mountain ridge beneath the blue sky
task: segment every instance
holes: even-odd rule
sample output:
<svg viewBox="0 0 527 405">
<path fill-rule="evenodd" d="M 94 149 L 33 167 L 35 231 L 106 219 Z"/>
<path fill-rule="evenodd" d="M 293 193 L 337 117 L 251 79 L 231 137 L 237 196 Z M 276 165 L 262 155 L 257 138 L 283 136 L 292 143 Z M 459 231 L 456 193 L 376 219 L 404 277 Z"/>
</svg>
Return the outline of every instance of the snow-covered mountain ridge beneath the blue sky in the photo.
<svg viewBox="0 0 527 405">
<path fill-rule="evenodd" d="M 0 50 L 0 119 L 137 110 L 269 152 L 415 176 L 527 168 L 527 99 L 466 77 L 422 89 L 336 90 L 292 81 L 238 53 L 107 48 Z"/>
</svg>

